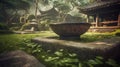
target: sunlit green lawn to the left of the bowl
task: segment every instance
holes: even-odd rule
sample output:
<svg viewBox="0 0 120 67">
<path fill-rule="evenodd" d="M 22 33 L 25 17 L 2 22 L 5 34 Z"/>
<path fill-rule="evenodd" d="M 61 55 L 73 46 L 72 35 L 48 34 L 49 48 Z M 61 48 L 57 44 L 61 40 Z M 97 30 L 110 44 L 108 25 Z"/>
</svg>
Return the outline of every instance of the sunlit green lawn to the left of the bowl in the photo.
<svg viewBox="0 0 120 67">
<path fill-rule="evenodd" d="M 38 34 L 0 34 L 0 53 L 15 50 L 19 48 L 19 44 L 24 40 L 31 40 L 34 37 L 56 36 L 49 31 L 40 32 Z"/>
</svg>

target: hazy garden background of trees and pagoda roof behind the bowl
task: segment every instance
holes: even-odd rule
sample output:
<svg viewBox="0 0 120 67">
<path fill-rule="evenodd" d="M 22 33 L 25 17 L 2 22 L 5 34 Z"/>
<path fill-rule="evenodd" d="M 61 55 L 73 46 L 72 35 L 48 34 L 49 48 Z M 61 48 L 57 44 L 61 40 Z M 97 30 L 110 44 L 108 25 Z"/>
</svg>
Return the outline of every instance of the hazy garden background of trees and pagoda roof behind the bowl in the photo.
<svg viewBox="0 0 120 67">
<path fill-rule="evenodd" d="M 77 20 L 85 21 L 86 15 L 78 7 L 95 0 L 0 0 L 1 29 L 24 30 L 30 21 L 36 21 L 39 30 L 49 30 L 50 23 Z"/>
</svg>

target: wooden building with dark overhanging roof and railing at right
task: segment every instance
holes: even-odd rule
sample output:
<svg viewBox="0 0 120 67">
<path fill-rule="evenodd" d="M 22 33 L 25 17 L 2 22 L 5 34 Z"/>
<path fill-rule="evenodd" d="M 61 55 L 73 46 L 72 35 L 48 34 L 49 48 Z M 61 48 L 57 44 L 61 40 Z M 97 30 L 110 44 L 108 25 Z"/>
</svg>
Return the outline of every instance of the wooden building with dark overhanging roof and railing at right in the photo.
<svg viewBox="0 0 120 67">
<path fill-rule="evenodd" d="M 94 18 L 90 31 L 111 32 L 120 29 L 120 0 L 96 0 L 79 9 L 87 15 L 87 22 L 90 22 L 90 16 Z"/>
</svg>

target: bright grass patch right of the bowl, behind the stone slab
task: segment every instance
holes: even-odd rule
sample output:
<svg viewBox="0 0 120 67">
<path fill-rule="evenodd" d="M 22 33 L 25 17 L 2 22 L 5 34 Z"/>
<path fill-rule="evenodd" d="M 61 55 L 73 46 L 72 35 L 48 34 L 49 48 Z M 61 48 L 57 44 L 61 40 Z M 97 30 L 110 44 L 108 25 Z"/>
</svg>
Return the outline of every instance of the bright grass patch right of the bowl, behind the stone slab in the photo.
<svg viewBox="0 0 120 67">
<path fill-rule="evenodd" d="M 94 42 L 115 37 L 114 33 L 86 33 L 81 36 L 80 42 Z"/>
</svg>

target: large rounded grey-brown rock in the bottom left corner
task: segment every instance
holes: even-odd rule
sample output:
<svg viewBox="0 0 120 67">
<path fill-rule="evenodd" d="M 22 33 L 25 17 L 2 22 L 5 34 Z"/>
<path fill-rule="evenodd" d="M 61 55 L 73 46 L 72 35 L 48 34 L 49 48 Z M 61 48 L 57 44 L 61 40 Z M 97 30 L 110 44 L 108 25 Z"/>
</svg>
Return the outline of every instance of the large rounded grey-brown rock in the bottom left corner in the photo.
<svg viewBox="0 0 120 67">
<path fill-rule="evenodd" d="M 0 55 L 0 67 L 45 67 L 35 57 L 17 50 Z"/>
</svg>

